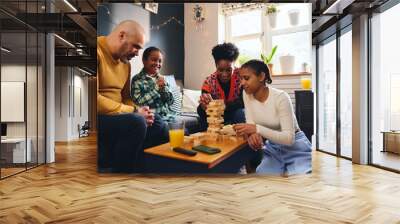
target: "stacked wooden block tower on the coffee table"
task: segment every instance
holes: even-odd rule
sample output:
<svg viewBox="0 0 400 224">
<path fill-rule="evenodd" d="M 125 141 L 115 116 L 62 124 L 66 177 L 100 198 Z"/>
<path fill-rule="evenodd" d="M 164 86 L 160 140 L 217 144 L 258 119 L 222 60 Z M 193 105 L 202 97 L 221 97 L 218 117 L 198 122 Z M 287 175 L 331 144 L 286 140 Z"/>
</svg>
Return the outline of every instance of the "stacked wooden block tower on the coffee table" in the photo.
<svg viewBox="0 0 400 224">
<path fill-rule="evenodd" d="M 224 126 L 224 111 L 225 103 L 224 100 L 212 100 L 207 106 L 207 132 L 218 133 Z"/>
</svg>

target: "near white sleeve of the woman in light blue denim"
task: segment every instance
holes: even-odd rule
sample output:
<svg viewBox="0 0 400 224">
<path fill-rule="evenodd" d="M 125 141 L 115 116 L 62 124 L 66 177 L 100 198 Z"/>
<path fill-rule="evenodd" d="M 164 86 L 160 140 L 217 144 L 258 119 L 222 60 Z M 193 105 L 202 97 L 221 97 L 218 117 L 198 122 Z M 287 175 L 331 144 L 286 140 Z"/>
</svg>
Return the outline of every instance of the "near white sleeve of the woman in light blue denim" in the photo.
<svg viewBox="0 0 400 224">
<path fill-rule="evenodd" d="M 281 130 L 276 131 L 261 125 L 257 125 L 257 133 L 264 138 L 282 145 L 293 145 L 295 140 L 295 128 L 292 102 L 289 94 L 282 92 L 277 96 L 276 105 Z"/>
</svg>

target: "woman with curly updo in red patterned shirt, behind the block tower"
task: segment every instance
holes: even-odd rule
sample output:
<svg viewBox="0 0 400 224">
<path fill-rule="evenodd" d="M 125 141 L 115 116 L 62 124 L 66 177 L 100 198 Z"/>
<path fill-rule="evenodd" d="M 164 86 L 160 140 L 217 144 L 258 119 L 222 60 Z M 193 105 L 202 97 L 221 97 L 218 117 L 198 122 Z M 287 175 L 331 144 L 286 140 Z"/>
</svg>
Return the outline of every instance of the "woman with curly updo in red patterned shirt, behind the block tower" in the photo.
<svg viewBox="0 0 400 224">
<path fill-rule="evenodd" d="M 218 44 L 212 49 L 212 56 L 216 71 L 204 81 L 201 87 L 200 105 L 197 108 L 202 131 L 208 126 L 205 112 L 207 105 L 215 99 L 225 101 L 225 124 L 245 122 L 239 70 L 234 67 L 239 50 L 232 43 Z"/>
</svg>

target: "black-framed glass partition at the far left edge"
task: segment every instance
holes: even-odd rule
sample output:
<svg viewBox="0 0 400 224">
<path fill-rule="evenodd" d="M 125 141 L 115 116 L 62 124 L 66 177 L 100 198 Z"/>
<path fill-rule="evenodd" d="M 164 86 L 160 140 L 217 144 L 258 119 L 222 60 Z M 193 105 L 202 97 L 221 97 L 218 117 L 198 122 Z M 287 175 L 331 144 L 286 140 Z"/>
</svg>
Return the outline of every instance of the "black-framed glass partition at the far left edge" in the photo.
<svg viewBox="0 0 400 224">
<path fill-rule="evenodd" d="M 21 17 L 25 13 L 38 15 L 42 12 L 40 6 L 44 4 L 44 0 L 0 1 L 0 7 L 19 9 L 17 14 Z M 4 107 L 4 96 L 13 94 L 19 96 L 16 99 L 22 99 L 20 107 L 16 107 L 22 110 L 16 113 L 22 118 L 17 116 L 15 120 L 8 120 L 1 117 L 2 126 L 6 124 L 7 127 L 7 133 L 2 133 L 6 139 L 2 138 L 0 145 L 2 179 L 45 163 L 46 38 L 43 32 L 26 26 L 5 12 L 0 12 L 0 17 L 9 21 L 3 23 L 0 29 L 1 114 L 13 112 Z"/>
</svg>

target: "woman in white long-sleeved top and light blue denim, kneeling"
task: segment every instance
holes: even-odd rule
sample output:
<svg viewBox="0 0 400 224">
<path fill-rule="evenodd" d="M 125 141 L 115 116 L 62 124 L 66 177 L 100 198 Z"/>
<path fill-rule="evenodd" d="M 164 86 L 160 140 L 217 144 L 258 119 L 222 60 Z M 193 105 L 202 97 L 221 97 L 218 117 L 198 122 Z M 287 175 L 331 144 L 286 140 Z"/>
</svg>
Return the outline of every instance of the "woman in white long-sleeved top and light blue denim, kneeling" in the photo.
<svg viewBox="0 0 400 224">
<path fill-rule="evenodd" d="M 247 137 L 253 150 L 263 150 L 256 172 L 310 173 L 311 143 L 299 129 L 289 95 L 266 84 L 272 83 L 268 66 L 260 60 L 250 60 L 242 65 L 240 79 L 245 91 L 246 124 L 237 124 L 234 129 Z"/>
</svg>

